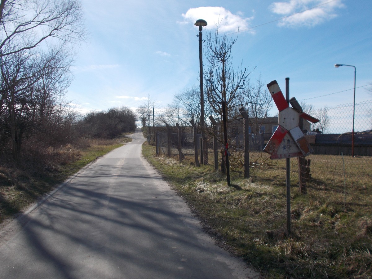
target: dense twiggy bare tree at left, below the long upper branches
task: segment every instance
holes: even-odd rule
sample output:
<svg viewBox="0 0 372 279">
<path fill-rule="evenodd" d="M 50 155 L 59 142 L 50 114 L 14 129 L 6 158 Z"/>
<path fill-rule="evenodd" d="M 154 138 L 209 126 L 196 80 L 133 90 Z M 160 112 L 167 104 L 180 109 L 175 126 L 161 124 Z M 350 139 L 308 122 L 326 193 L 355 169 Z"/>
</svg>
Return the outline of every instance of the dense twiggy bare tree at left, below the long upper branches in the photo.
<svg viewBox="0 0 372 279">
<path fill-rule="evenodd" d="M 61 119 L 66 107 L 62 100 L 70 85 L 68 60 L 64 48 L 51 47 L 48 52 L 17 52 L 0 57 L 1 110 L 4 130 L 9 131 L 13 157 L 18 160 L 22 140 L 27 133 Z M 62 102 L 61 102 L 62 101 Z"/>
</svg>

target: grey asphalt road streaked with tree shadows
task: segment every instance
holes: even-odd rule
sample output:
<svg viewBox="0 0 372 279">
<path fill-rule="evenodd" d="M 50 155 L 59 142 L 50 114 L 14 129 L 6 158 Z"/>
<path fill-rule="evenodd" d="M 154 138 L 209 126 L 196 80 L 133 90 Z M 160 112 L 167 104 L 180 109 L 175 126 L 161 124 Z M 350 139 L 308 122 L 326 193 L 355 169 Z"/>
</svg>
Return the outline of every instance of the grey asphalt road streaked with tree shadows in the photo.
<svg viewBox="0 0 372 279">
<path fill-rule="evenodd" d="M 256 278 L 215 245 L 133 141 L 0 231 L 0 278 Z"/>
</svg>

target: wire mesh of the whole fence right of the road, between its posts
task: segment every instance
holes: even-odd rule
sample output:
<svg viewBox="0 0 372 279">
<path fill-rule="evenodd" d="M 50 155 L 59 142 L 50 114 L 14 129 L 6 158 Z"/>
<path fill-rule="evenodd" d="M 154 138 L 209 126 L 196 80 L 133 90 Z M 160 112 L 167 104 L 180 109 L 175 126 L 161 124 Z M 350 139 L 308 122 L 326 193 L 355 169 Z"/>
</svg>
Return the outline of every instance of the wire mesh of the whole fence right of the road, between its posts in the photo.
<svg viewBox="0 0 372 279">
<path fill-rule="evenodd" d="M 344 104 L 326 110 L 313 112 L 323 113 L 323 119 L 318 125 L 312 125 L 308 132 L 308 140 L 314 154 L 307 156 L 307 186 L 311 189 L 327 189 L 333 192 L 345 192 L 347 189 L 366 189 L 372 185 L 372 100 L 355 104 Z M 354 141 L 352 140 L 353 122 L 355 126 Z M 318 131 L 318 132 L 315 132 Z M 178 134 L 172 133 L 173 140 L 168 144 L 168 133 L 157 133 L 158 152 L 160 154 L 178 154 Z M 270 160 L 270 155 L 264 153 L 263 147 L 270 135 L 250 135 L 250 176 L 256 180 L 267 180 L 276 185 L 285 185 L 285 160 Z M 200 154 L 200 137 L 197 146 Z M 229 135 L 231 167 L 243 170 L 244 136 Z M 221 139 L 220 139 L 221 140 Z M 352 157 L 354 142 L 355 157 Z M 210 164 L 212 162 L 212 140 L 209 145 Z M 182 152 L 184 155 L 194 154 L 193 134 L 182 134 Z M 220 159 L 220 158 L 219 158 Z M 297 158 L 291 158 L 291 183 L 299 180 L 299 163 Z"/>
</svg>

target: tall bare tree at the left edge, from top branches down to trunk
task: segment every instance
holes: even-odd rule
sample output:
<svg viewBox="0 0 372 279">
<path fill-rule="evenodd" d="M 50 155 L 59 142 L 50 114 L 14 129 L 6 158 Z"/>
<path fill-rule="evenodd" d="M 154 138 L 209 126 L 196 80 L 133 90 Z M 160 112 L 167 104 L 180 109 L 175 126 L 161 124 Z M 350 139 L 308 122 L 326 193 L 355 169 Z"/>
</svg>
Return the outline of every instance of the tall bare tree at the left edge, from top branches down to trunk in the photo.
<svg viewBox="0 0 372 279">
<path fill-rule="evenodd" d="M 10 140 L 17 162 L 25 137 L 71 115 L 63 95 L 70 43 L 85 32 L 80 2 L 1 0 L 0 32 L 0 143 Z"/>
</svg>

